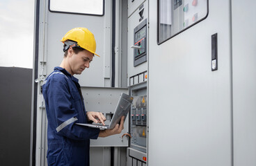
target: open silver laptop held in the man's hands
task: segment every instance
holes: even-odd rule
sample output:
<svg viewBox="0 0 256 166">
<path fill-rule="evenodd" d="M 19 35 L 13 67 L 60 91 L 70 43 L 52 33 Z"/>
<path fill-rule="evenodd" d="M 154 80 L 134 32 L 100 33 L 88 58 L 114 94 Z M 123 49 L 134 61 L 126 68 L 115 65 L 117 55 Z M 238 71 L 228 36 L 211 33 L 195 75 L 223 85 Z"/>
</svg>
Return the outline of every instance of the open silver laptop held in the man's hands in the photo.
<svg viewBox="0 0 256 166">
<path fill-rule="evenodd" d="M 130 95 L 122 93 L 117 106 L 115 107 L 115 112 L 113 114 L 113 118 L 109 125 L 103 124 L 90 124 L 90 123 L 76 123 L 82 126 L 99 128 L 99 129 L 113 129 L 115 124 L 118 124 L 122 118 L 122 116 L 127 116 L 129 110 L 131 109 L 131 102 L 134 100 Z"/>
</svg>

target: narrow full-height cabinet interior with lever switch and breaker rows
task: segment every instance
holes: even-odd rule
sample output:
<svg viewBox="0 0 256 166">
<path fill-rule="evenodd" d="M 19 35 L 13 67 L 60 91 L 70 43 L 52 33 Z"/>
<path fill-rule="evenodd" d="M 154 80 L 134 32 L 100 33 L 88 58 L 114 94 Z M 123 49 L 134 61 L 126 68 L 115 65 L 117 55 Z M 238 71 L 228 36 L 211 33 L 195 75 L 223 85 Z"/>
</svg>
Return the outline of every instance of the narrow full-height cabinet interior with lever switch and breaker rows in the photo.
<svg viewBox="0 0 256 166">
<path fill-rule="evenodd" d="M 147 163 L 148 1 L 129 2 L 128 7 L 127 85 L 134 102 L 129 114 L 127 166 L 137 166 Z"/>
</svg>

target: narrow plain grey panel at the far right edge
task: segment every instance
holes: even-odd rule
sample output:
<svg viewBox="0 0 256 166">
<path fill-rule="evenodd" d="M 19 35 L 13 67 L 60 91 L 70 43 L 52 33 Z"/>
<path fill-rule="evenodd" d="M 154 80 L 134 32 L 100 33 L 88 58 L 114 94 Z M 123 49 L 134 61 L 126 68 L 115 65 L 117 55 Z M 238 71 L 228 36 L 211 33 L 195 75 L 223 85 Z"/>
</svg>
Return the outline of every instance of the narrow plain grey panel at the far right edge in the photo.
<svg viewBox="0 0 256 166">
<path fill-rule="evenodd" d="M 232 0 L 234 166 L 256 165 L 255 6 Z"/>
</svg>

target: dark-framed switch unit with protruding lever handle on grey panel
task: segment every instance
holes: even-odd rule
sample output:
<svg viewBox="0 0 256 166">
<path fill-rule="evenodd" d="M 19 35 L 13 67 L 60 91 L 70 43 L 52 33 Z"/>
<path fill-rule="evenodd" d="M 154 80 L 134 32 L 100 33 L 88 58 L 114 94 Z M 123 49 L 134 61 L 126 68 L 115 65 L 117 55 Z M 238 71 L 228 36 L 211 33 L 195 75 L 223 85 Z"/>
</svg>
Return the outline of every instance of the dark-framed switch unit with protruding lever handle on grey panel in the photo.
<svg viewBox="0 0 256 166">
<path fill-rule="evenodd" d="M 134 28 L 134 67 L 147 61 L 147 19 Z"/>
</svg>

